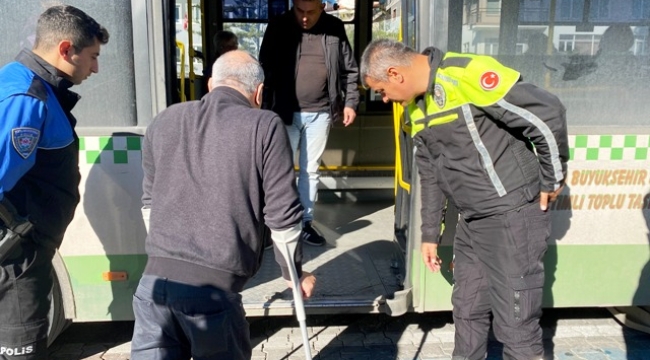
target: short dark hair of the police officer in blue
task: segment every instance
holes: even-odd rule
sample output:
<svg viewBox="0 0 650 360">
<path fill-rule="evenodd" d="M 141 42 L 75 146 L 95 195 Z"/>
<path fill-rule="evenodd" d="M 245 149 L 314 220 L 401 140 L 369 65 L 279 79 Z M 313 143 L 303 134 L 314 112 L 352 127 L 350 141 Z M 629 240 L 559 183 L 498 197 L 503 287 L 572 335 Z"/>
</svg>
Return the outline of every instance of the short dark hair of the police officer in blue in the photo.
<svg viewBox="0 0 650 360">
<path fill-rule="evenodd" d="M 85 12 L 70 5 L 52 6 L 38 18 L 34 48 L 51 49 L 62 40 L 70 40 L 75 50 L 108 42 L 108 31 Z"/>
</svg>

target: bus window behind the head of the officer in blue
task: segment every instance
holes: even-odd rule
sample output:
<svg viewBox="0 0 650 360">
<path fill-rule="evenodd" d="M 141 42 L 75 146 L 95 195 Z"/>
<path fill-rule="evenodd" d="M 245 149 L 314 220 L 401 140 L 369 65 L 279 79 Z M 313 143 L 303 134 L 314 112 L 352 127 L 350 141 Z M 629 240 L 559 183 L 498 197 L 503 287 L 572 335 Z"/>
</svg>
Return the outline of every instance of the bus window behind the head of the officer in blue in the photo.
<svg viewBox="0 0 650 360">
<path fill-rule="evenodd" d="M 106 26 L 110 41 L 101 48 L 99 73 L 75 86 L 80 101 L 74 109 L 78 127 L 135 126 L 136 97 L 134 84 L 131 1 L 67 1 L 100 24 Z M 36 21 L 45 8 L 39 1 L 5 1 L 0 33 L 0 64 L 13 61 L 22 48 L 34 44 Z M 10 40 L 11 39 L 11 40 Z M 106 97 L 106 94 L 111 94 Z"/>
</svg>

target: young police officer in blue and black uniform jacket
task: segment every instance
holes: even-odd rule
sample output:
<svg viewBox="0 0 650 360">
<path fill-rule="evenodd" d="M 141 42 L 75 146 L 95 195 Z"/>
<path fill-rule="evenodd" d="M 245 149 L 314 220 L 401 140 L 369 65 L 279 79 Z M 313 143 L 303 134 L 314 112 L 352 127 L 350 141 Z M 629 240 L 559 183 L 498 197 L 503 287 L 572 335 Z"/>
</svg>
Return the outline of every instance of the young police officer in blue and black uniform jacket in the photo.
<svg viewBox="0 0 650 360">
<path fill-rule="evenodd" d="M 0 69 L 0 359 L 47 358 L 52 258 L 79 203 L 69 88 L 98 71 L 107 42 L 83 11 L 54 6 L 33 49 Z"/>
</svg>

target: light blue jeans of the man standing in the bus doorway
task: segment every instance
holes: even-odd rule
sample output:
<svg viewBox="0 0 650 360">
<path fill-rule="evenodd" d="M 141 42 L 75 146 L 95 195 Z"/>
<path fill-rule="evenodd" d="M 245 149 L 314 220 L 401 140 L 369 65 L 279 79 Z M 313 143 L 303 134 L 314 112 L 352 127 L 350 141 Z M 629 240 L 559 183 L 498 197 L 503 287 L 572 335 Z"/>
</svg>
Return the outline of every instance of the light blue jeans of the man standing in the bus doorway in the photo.
<svg viewBox="0 0 650 360">
<path fill-rule="evenodd" d="M 294 158 L 300 145 L 298 194 L 304 208 L 303 223 L 314 219 L 314 202 L 320 178 L 318 167 L 331 125 L 332 118 L 328 112 L 302 112 L 293 113 L 293 124 L 286 126 Z"/>
</svg>

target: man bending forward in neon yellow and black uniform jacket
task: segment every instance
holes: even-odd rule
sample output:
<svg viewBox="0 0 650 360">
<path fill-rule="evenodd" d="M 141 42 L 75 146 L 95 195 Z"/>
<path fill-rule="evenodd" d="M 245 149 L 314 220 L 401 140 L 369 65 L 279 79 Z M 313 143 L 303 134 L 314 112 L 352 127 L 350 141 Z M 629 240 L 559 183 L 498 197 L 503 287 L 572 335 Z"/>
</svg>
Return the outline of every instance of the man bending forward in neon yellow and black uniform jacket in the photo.
<svg viewBox="0 0 650 360">
<path fill-rule="evenodd" d="M 453 359 L 485 358 L 490 312 L 504 359 L 541 359 L 547 209 L 569 158 L 564 106 L 489 56 L 418 54 L 390 40 L 368 45 L 361 77 L 384 101 L 407 107 L 431 271 L 440 270 L 446 200 L 460 211 Z"/>
</svg>

